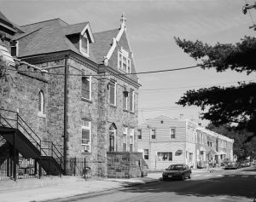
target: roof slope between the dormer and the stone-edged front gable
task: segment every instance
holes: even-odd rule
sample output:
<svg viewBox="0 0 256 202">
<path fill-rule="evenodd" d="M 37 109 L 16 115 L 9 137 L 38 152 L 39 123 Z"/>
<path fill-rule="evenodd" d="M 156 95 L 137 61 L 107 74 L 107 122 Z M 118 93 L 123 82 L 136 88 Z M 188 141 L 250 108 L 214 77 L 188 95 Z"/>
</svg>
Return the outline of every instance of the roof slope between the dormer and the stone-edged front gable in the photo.
<svg viewBox="0 0 256 202">
<path fill-rule="evenodd" d="M 101 64 L 104 61 L 104 56 L 108 55 L 108 51 L 113 42 L 112 39 L 116 38 L 118 33 L 119 29 L 113 29 L 93 34 L 96 43 L 90 44 L 90 51 L 92 51 L 98 64 Z"/>
</svg>

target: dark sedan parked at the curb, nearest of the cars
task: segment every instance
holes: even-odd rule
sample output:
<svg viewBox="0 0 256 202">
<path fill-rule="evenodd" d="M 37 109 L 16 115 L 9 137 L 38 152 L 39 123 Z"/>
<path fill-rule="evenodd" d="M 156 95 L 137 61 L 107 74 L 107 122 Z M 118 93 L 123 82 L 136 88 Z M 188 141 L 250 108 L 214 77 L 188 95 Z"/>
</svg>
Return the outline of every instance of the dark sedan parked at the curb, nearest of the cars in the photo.
<svg viewBox="0 0 256 202">
<path fill-rule="evenodd" d="M 166 171 L 163 172 L 163 180 L 166 179 L 181 179 L 186 177 L 189 179 L 192 176 L 192 170 L 187 164 L 171 164 Z"/>
</svg>

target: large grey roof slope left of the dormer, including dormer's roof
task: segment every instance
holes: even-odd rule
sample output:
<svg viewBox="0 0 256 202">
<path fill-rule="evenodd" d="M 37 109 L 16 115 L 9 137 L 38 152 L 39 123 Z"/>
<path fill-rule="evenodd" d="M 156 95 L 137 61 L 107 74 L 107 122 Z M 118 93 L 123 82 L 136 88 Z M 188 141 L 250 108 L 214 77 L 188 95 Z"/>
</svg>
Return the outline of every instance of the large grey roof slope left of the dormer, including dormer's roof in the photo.
<svg viewBox="0 0 256 202">
<path fill-rule="evenodd" d="M 22 26 L 25 34 L 16 35 L 19 40 L 19 57 L 73 50 L 81 55 L 79 49 L 67 38 L 68 35 L 84 31 L 88 22 L 68 25 L 61 19 L 45 20 L 31 25 Z M 93 37 L 91 37 L 93 39 Z M 95 61 L 90 55 L 91 61 Z"/>
</svg>

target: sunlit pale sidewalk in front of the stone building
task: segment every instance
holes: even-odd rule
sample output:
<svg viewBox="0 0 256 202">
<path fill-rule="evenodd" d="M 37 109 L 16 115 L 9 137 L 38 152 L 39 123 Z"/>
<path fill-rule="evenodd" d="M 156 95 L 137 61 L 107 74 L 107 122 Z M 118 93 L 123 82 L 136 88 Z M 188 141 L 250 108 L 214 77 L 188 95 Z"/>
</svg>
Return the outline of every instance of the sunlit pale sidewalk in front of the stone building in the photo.
<svg viewBox="0 0 256 202">
<path fill-rule="evenodd" d="M 119 188 L 127 188 L 138 184 L 156 182 L 159 180 L 161 173 L 149 173 L 147 177 L 131 178 L 131 179 L 113 179 L 113 178 L 91 178 L 84 181 L 82 178 L 63 176 L 52 177 L 52 182 L 42 179 L 44 184 L 31 182 L 13 182 L 19 183 L 19 186 L 10 186 L 8 183 L 4 185 L 0 183 L 0 199 L 1 202 L 32 202 L 32 201 L 48 201 L 52 199 L 62 199 L 81 194 L 100 193 Z M 38 180 L 38 179 L 35 179 Z M 40 181 L 40 180 L 38 180 Z M 22 183 L 25 185 L 22 186 Z M 29 187 L 29 184 L 37 188 Z M 4 187 L 3 187 L 4 186 Z M 10 186 L 8 188 L 8 186 Z"/>
</svg>

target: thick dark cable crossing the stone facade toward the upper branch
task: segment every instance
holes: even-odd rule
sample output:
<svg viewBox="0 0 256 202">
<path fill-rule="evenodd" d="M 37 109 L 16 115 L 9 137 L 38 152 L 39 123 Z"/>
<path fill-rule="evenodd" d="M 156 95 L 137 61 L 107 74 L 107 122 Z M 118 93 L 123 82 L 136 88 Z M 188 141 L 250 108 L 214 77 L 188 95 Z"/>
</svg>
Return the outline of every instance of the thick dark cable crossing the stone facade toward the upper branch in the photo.
<svg viewBox="0 0 256 202">
<path fill-rule="evenodd" d="M 181 67 L 181 68 L 175 68 L 175 69 L 165 69 L 165 70 L 156 70 L 156 71 L 148 71 L 148 72 L 134 72 L 134 73 L 113 73 L 113 74 L 107 74 L 106 76 L 125 76 L 125 75 L 138 75 L 138 74 L 147 74 L 147 73 L 158 73 L 158 72 L 173 72 L 173 71 L 180 71 L 180 70 L 186 70 L 186 69 L 192 69 L 199 67 L 201 65 L 196 65 L 196 66 L 186 66 L 186 67 Z M 38 73 L 38 72 L 32 72 L 32 71 L 26 71 L 26 70 L 18 70 L 18 69 L 10 69 L 7 68 L 10 71 L 17 71 L 17 72 L 31 72 L 31 73 Z M 64 73 L 51 73 L 51 72 L 45 72 L 46 74 L 49 75 L 58 75 L 58 76 L 64 76 Z M 84 76 L 93 76 L 93 77 L 100 77 L 102 75 L 99 74 L 73 74 L 73 73 L 67 73 L 67 76 L 76 76 L 76 77 L 84 77 Z"/>
</svg>

